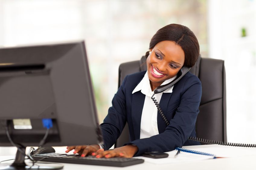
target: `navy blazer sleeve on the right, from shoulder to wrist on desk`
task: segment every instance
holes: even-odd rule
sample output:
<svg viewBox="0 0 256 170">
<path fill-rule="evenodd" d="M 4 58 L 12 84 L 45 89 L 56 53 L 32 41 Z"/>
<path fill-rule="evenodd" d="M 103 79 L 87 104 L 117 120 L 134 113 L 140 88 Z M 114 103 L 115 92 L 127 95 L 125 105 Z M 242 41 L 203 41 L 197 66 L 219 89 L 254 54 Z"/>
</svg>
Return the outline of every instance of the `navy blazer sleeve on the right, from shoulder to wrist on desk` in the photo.
<svg viewBox="0 0 256 170">
<path fill-rule="evenodd" d="M 200 80 L 195 76 L 188 77 L 184 82 L 180 105 L 165 131 L 150 138 L 137 139 L 125 145 L 133 144 L 139 148 L 134 156 L 150 151 L 167 152 L 176 147 L 182 147 L 195 127 L 201 95 Z"/>
</svg>

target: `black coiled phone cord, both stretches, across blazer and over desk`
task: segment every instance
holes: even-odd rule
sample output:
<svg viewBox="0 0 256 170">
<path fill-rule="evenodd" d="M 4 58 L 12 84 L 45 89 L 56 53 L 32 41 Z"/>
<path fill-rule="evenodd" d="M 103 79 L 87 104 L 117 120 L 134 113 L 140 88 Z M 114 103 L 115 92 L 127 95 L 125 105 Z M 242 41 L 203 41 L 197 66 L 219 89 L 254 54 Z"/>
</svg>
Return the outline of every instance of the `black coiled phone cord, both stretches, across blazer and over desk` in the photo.
<svg viewBox="0 0 256 170">
<path fill-rule="evenodd" d="M 154 101 L 154 103 L 157 107 L 157 110 L 159 111 L 161 117 L 163 118 L 166 126 L 168 126 L 169 122 L 166 119 L 163 111 L 161 110 L 158 102 L 155 100 L 154 95 L 155 95 L 155 93 L 152 95 L 151 99 Z M 229 143 L 229 142 L 222 142 L 222 141 L 213 141 L 213 140 L 208 140 L 208 139 L 203 139 L 203 138 L 196 138 L 196 137 L 193 137 L 193 136 L 190 136 L 188 139 L 192 140 L 192 141 L 203 142 L 203 143 L 206 143 L 206 144 L 218 144 L 218 145 L 234 146 L 234 147 L 256 147 L 256 144 L 238 144 L 238 143 Z"/>
</svg>

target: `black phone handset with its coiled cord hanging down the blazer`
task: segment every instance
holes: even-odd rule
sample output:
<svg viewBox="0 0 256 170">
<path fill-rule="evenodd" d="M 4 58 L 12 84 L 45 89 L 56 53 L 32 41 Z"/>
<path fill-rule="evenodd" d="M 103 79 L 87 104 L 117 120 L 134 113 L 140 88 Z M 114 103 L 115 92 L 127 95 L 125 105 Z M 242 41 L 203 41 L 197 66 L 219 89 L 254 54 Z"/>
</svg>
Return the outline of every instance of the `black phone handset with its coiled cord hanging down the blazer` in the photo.
<svg viewBox="0 0 256 170">
<path fill-rule="evenodd" d="M 159 111 L 161 117 L 163 118 L 163 120 L 165 121 L 166 126 L 169 125 L 168 120 L 166 119 L 163 111 L 161 110 L 158 102 L 155 100 L 154 95 L 157 93 L 161 93 L 163 91 L 165 91 L 166 89 L 170 88 L 171 86 L 173 86 L 174 84 L 176 84 L 183 76 L 185 76 L 185 74 L 187 74 L 187 72 L 190 70 L 190 68 L 188 67 L 182 67 L 181 70 L 178 72 L 177 77 L 171 81 L 170 83 L 166 84 L 166 85 L 160 85 L 158 86 L 155 90 L 154 90 L 154 94 L 152 95 L 151 99 L 154 101 L 157 110 Z"/>
</svg>

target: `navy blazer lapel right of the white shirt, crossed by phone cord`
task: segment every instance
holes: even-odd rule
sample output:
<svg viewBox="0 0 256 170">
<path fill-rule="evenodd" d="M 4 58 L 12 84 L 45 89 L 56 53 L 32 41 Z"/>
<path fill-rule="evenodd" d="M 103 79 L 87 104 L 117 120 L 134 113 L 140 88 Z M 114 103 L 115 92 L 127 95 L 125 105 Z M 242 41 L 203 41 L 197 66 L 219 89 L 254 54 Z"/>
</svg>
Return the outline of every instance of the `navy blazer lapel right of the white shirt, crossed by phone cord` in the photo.
<svg viewBox="0 0 256 170">
<path fill-rule="evenodd" d="M 166 115 L 167 107 L 168 107 L 169 100 L 171 98 L 171 94 L 172 93 L 163 93 L 160 103 L 158 102 L 165 117 L 167 117 L 167 115 Z M 168 121 L 170 121 L 170 120 L 168 120 Z M 159 134 L 165 131 L 166 124 L 165 124 L 165 121 L 163 120 L 162 116 L 160 115 L 159 111 L 157 111 L 157 126 L 158 126 Z"/>
</svg>

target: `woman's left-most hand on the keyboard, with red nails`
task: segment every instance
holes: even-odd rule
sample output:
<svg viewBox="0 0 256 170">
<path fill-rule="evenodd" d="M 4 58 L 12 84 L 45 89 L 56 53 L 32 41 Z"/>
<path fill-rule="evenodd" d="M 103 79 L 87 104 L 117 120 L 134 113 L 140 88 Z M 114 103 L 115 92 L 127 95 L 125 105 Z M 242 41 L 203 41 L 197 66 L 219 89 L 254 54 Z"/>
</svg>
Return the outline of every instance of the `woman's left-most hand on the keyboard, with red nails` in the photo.
<svg viewBox="0 0 256 170">
<path fill-rule="evenodd" d="M 78 153 L 81 156 L 91 155 L 91 153 L 101 153 L 104 150 L 99 145 L 79 145 L 79 146 L 68 146 L 66 153 L 74 149 L 74 154 Z"/>
</svg>

